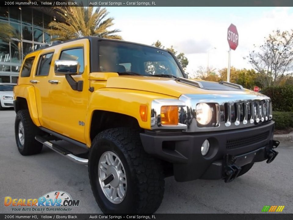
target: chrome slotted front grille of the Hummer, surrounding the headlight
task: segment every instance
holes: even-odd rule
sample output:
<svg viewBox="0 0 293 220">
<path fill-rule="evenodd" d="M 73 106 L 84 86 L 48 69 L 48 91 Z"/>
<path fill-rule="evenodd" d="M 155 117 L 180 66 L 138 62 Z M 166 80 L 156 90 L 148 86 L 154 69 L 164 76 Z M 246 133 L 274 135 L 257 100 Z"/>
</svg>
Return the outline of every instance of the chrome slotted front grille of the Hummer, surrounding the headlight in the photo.
<svg viewBox="0 0 293 220">
<path fill-rule="evenodd" d="M 186 103 L 179 111 L 179 122 L 187 125 L 186 132 L 247 128 L 269 123 L 272 119 L 270 98 L 262 94 L 184 94 L 179 100 Z M 197 124 L 198 103 L 215 106 L 216 121 L 207 127 Z"/>
</svg>

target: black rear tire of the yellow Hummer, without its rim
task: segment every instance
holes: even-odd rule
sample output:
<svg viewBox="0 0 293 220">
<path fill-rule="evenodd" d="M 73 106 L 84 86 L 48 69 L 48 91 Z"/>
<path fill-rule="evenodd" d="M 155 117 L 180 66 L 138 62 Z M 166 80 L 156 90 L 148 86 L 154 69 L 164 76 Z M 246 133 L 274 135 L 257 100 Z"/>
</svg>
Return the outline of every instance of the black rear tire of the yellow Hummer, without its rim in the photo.
<svg viewBox="0 0 293 220">
<path fill-rule="evenodd" d="M 20 138 L 18 135 L 19 133 L 18 128 L 19 128 L 20 121 L 22 122 L 24 127 L 24 144 L 23 145 L 20 143 Z M 27 155 L 37 154 L 42 151 L 43 144 L 36 141 L 34 137 L 36 135 L 42 135 L 43 132 L 33 123 L 33 121 L 31 120 L 30 113 L 27 109 L 20 110 L 17 112 L 16 118 L 15 118 L 14 130 L 15 130 L 16 146 L 21 155 L 27 156 Z"/>
</svg>

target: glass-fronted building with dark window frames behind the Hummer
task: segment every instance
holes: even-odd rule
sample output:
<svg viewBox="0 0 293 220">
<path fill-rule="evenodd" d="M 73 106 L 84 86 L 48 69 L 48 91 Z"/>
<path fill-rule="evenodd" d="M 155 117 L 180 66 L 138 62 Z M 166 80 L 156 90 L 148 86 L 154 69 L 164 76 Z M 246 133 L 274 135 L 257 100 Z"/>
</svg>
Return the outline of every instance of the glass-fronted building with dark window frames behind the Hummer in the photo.
<svg viewBox="0 0 293 220">
<path fill-rule="evenodd" d="M 12 26 L 16 38 L 0 39 L 0 82 L 16 82 L 25 55 L 50 43 L 45 30 L 55 17 L 34 7 L 0 7 L 0 23 Z"/>
</svg>

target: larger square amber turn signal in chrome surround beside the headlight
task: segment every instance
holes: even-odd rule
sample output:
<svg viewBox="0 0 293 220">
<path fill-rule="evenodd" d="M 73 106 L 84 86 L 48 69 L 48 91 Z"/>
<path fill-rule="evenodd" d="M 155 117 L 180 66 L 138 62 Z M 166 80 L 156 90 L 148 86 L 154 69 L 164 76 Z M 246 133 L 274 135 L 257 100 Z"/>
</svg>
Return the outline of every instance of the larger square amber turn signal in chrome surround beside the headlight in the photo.
<svg viewBox="0 0 293 220">
<path fill-rule="evenodd" d="M 178 125 L 178 106 L 161 107 L 161 124 Z"/>
</svg>

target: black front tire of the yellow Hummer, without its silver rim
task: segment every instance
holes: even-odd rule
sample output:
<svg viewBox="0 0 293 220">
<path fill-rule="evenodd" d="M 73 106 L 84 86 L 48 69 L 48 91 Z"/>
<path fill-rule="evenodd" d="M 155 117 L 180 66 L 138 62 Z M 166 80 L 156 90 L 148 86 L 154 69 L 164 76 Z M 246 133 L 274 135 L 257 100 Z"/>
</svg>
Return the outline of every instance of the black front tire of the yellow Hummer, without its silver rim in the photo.
<svg viewBox="0 0 293 220">
<path fill-rule="evenodd" d="M 120 204 L 109 201 L 99 184 L 99 159 L 106 151 L 118 155 L 125 168 L 127 190 Z M 131 128 L 108 129 L 97 134 L 90 149 L 89 179 L 104 213 L 154 213 L 164 195 L 161 161 L 144 151 L 138 130 Z"/>
</svg>

